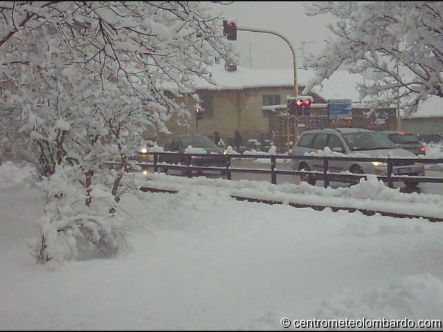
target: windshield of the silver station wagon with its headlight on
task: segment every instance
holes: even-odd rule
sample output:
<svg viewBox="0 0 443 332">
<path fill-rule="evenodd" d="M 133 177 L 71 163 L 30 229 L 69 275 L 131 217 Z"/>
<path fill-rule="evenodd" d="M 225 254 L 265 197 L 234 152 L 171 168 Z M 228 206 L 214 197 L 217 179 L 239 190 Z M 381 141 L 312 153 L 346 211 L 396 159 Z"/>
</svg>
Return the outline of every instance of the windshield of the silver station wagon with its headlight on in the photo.
<svg viewBox="0 0 443 332">
<path fill-rule="evenodd" d="M 378 133 L 374 133 L 373 131 L 344 133 L 343 138 L 351 151 L 396 148 L 394 143 L 390 142 L 390 140 L 384 138 Z"/>
</svg>

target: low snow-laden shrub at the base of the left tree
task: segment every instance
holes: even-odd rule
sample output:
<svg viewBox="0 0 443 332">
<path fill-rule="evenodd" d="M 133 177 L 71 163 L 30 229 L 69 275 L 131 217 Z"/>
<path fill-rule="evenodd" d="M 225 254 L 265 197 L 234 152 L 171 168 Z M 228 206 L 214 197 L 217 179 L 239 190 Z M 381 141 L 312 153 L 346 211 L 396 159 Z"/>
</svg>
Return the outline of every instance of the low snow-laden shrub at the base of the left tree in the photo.
<svg viewBox="0 0 443 332">
<path fill-rule="evenodd" d="M 33 252 L 41 264 L 64 261 L 91 255 L 109 257 L 129 249 L 125 219 L 113 210 L 114 196 L 105 187 L 91 190 L 90 199 L 73 167 L 57 166 L 50 178 L 39 187 L 44 193 L 44 214 L 37 225 L 40 239 L 34 242 Z"/>
</svg>

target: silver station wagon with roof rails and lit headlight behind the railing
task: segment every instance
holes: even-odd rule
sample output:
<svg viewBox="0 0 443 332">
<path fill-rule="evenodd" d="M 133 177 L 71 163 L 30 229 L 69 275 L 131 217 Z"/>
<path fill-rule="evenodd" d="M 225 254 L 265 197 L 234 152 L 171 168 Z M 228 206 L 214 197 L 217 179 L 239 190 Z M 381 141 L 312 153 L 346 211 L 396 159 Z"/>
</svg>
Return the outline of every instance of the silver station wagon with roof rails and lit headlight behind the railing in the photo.
<svg viewBox="0 0 443 332">
<path fill-rule="evenodd" d="M 341 154 L 361 154 L 370 158 L 417 158 L 415 154 L 405 149 L 398 148 L 387 138 L 376 131 L 359 128 L 316 129 L 302 133 L 293 147 L 293 156 L 306 156 L 311 152 L 324 150 L 329 147 L 331 151 Z M 293 159 L 294 170 L 323 172 L 323 160 Z M 329 171 L 334 173 L 351 172 L 354 174 L 388 174 L 388 165 L 379 162 L 334 161 L 329 162 Z M 424 165 L 413 161 L 393 167 L 395 175 L 424 176 Z M 314 185 L 317 181 L 314 174 L 300 176 L 302 181 Z M 353 180 L 352 183 L 358 182 Z M 405 181 L 407 187 L 417 187 L 418 182 Z"/>
</svg>

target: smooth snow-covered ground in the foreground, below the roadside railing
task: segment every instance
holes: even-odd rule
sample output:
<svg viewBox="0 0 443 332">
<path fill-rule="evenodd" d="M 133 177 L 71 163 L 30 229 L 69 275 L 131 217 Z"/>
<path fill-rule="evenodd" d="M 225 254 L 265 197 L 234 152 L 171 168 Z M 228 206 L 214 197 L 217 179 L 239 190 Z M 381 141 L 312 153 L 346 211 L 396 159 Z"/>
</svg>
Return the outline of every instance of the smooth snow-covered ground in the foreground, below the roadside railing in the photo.
<svg viewBox="0 0 443 332">
<path fill-rule="evenodd" d="M 226 195 L 228 181 L 175 178 L 186 190 L 123 199 L 140 223 L 132 222 L 132 252 L 37 266 L 26 240 L 36 236 L 41 198 L 27 173 L 0 167 L 1 329 L 442 318 L 442 223 L 239 202 Z"/>
</svg>

